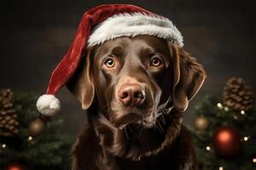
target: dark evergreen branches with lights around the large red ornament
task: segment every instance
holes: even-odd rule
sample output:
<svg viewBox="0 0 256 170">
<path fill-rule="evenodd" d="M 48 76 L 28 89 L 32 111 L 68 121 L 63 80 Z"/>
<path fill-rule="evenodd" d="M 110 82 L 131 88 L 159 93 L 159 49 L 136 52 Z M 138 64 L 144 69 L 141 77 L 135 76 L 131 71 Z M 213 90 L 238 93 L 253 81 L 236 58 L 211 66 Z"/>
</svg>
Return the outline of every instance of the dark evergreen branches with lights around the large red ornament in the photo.
<svg viewBox="0 0 256 170">
<path fill-rule="evenodd" d="M 204 116 L 209 122 L 205 130 L 191 128 L 195 139 L 195 153 L 202 170 L 256 169 L 256 162 L 253 162 L 256 161 L 256 113 L 254 109 L 233 110 L 223 105 L 219 97 L 207 96 L 196 105 L 195 116 Z M 217 151 L 212 147 L 212 134 L 218 127 L 236 127 L 239 131 L 242 149 L 238 155 L 218 156 Z"/>
</svg>

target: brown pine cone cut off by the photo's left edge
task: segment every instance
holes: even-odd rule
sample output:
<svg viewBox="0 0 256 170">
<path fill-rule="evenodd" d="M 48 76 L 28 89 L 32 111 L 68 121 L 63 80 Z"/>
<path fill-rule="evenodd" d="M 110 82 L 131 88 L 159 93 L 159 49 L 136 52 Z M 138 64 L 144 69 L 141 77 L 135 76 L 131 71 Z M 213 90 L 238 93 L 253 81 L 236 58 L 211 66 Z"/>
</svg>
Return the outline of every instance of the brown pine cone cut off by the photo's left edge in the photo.
<svg viewBox="0 0 256 170">
<path fill-rule="evenodd" d="M 10 89 L 0 91 L 0 136 L 14 136 L 19 122 L 13 109 L 14 94 Z"/>
</svg>

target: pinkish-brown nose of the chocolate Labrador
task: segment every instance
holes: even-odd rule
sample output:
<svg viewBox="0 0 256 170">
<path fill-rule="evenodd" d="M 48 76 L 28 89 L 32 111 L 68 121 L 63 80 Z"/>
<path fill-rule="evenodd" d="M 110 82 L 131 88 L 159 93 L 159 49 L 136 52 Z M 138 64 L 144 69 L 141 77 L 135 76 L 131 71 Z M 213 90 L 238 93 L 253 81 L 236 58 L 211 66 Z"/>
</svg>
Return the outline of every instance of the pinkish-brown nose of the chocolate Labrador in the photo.
<svg viewBox="0 0 256 170">
<path fill-rule="evenodd" d="M 139 84 L 124 84 L 119 88 L 118 96 L 123 105 L 142 105 L 145 91 Z"/>
</svg>

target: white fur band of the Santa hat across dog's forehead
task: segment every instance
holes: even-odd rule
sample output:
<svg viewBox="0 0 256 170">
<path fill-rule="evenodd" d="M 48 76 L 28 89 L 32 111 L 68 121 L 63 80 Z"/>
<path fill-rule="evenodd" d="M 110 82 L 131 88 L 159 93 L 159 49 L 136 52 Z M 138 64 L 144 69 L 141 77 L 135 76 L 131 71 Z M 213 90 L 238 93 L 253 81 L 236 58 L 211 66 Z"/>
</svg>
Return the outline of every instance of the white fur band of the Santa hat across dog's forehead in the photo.
<svg viewBox="0 0 256 170">
<path fill-rule="evenodd" d="M 117 37 L 151 35 L 172 41 L 183 47 L 183 36 L 171 20 L 144 13 L 114 14 L 96 26 L 88 39 L 88 47 Z"/>
</svg>

